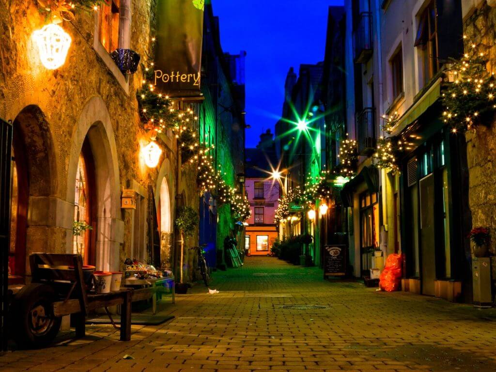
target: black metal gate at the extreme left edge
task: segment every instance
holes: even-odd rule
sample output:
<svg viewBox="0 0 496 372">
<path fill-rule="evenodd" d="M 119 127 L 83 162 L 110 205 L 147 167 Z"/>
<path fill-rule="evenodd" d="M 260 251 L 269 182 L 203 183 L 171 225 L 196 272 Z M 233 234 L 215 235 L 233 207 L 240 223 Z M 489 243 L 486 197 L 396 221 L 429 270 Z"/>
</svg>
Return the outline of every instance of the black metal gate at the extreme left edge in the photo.
<svg viewBox="0 0 496 372">
<path fill-rule="evenodd" d="M 12 125 L 0 119 L 0 342 L 7 350 L 8 250 L 10 245 L 10 159 Z"/>
</svg>

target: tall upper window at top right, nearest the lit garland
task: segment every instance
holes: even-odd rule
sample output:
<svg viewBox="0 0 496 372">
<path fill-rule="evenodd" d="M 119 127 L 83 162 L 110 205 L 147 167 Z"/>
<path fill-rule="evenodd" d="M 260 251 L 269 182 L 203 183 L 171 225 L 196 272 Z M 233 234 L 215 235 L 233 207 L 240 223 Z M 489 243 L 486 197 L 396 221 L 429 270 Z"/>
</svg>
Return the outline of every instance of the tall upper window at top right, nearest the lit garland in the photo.
<svg viewBox="0 0 496 372">
<path fill-rule="evenodd" d="M 439 69 L 437 61 L 437 26 L 435 21 L 434 1 L 431 1 L 419 17 L 419 27 L 415 38 L 419 50 L 424 86 L 434 77 Z"/>
</svg>

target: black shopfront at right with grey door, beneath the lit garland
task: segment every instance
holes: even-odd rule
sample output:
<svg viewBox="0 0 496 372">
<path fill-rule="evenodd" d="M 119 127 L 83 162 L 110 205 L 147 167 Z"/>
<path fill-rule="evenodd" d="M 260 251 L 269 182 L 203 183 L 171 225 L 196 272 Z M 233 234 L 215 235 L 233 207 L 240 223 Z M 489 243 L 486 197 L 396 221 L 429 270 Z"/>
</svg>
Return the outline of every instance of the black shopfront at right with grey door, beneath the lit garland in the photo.
<svg viewBox="0 0 496 372">
<path fill-rule="evenodd" d="M 410 287 L 456 299 L 471 286 L 466 144 L 438 114 L 434 104 L 400 133 L 412 147 L 401 162 L 401 241 Z"/>
</svg>

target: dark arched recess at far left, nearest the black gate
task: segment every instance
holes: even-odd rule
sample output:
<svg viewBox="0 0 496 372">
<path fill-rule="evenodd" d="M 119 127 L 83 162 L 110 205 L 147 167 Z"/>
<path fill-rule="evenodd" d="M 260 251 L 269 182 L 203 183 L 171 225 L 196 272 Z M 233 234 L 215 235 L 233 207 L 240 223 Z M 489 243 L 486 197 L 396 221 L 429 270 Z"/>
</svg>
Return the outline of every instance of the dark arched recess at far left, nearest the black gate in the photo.
<svg viewBox="0 0 496 372">
<path fill-rule="evenodd" d="M 13 121 L 15 200 L 11 221 L 14 273 L 30 272 L 32 252 L 60 252 L 67 226 L 57 218 L 63 202 L 57 198 L 57 162 L 50 125 L 36 105 L 24 107 Z"/>
</svg>

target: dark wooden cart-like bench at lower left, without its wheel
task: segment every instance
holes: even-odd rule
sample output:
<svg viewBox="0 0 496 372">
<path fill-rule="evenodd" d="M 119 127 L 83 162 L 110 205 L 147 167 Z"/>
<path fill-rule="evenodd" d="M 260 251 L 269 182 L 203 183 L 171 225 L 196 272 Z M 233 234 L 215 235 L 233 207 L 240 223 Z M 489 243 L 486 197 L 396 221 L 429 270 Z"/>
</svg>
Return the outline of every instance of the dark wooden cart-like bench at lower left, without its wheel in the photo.
<svg viewBox="0 0 496 372">
<path fill-rule="evenodd" d="M 122 288 L 102 294 L 89 292 L 79 254 L 32 253 L 29 263 L 32 282 L 53 287 L 57 299 L 53 303 L 54 316 L 70 315 L 76 337 L 84 337 L 85 317 L 90 311 L 120 305 L 121 341 L 131 339 L 131 302 L 149 297 L 151 294 L 147 289 L 135 292 Z"/>
</svg>

